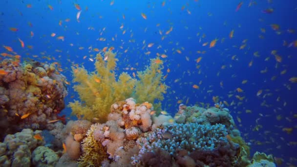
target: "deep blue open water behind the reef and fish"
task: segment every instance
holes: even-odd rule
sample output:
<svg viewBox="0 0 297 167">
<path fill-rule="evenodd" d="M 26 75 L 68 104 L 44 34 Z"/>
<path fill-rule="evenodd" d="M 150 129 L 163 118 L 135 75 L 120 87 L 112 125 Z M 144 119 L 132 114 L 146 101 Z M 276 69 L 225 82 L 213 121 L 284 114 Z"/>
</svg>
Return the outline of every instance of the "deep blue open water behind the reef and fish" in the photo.
<svg viewBox="0 0 297 167">
<path fill-rule="evenodd" d="M 214 104 L 213 96 L 219 96 L 220 101 L 229 104 L 234 101 L 235 105 L 228 108 L 244 139 L 251 143 L 252 153 L 256 150 L 273 153 L 283 158 L 285 163 L 296 165 L 296 145 L 289 142 L 297 142 L 297 118 L 294 118 L 294 114 L 297 114 L 297 83 L 291 83 L 289 79 L 297 77 L 297 47 L 288 45 L 297 40 L 297 1 L 242 0 L 243 4 L 236 12 L 240 2 L 114 0 L 114 4 L 110 5 L 111 0 L 1 0 L 0 53 L 6 52 L 2 47 L 6 45 L 11 46 L 22 59 L 38 55 L 34 58 L 37 61 L 59 62 L 68 81 L 72 80 L 70 69 L 73 64 L 93 70 L 93 62 L 88 58 L 96 52 L 89 52 L 90 46 L 99 49 L 113 46 L 119 59 L 119 73 L 135 72 L 125 70 L 126 67 L 144 70 L 149 59 L 155 58 L 157 53 L 166 54 L 168 58 L 163 59 L 163 72 L 167 74 L 166 70 L 170 69 L 166 79 L 170 88 L 163 107 L 168 112 L 174 115 L 179 100 L 186 104 L 188 99 L 187 105 L 209 103 L 211 106 Z M 79 4 L 82 9 L 79 22 L 74 4 Z M 269 8 L 274 10 L 273 13 L 262 12 Z M 146 20 L 141 13 L 146 14 Z M 61 25 L 59 21 L 62 21 Z M 278 24 L 279 29 L 274 30 L 272 24 Z M 124 25 L 122 29 L 121 25 Z M 18 31 L 11 31 L 11 27 Z M 91 27 L 94 30 L 88 30 Z M 170 27 L 172 31 L 166 35 Z M 261 28 L 265 32 L 261 32 Z M 234 35 L 230 39 L 232 30 Z M 123 34 L 123 31 L 126 33 Z M 51 33 L 56 36 L 51 37 Z M 57 40 L 58 36 L 64 36 L 64 41 Z M 21 48 L 18 38 L 24 42 L 24 48 Z M 210 48 L 209 44 L 214 39 L 218 41 Z M 247 40 L 246 46 L 239 49 L 244 40 Z M 207 46 L 202 46 L 205 42 L 208 42 Z M 154 45 L 148 48 L 148 43 Z M 28 45 L 33 48 L 28 48 Z M 126 49 L 127 53 L 124 52 Z M 182 53 L 177 53 L 177 49 Z M 277 55 L 282 57 L 281 62 L 276 61 L 272 50 L 277 50 Z M 148 51 L 151 53 L 146 55 Z M 205 51 L 205 54 L 198 54 L 197 51 Z M 254 56 L 255 52 L 258 52 L 258 57 Z M 84 56 L 87 58 L 83 59 Z M 196 63 L 199 57 L 202 59 Z M 266 58 L 269 60 L 265 61 Z M 251 61 L 253 64 L 249 66 Z M 200 65 L 199 69 L 197 65 Z M 265 68 L 267 72 L 260 73 Z M 280 74 L 283 70 L 286 73 Z M 274 76 L 276 79 L 272 81 Z M 242 84 L 243 80 L 247 80 L 247 83 Z M 194 89 L 193 84 L 199 85 L 199 89 Z M 237 92 L 238 87 L 243 92 Z M 260 89 L 263 93 L 256 96 Z M 269 93 L 270 96 L 265 96 Z M 233 96 L 229 98 L 229 94 Z M 245 98 L 240 101 L 235 98 L 236 95 Z M 74 99 L 78 99 L 78 96 L 69 87 L 65 101 L 68 103 Z M 263 101 L 269 106 L 262 106 Z M 238 105 L 238 102 L 241 104 Z M 246 113 L 247 109 L 252 113 Z M 70 112 L 70 108 L 65 108 L 62 114 L 69 115 Z M 282 116 L 280 121 L 276 120 L 277 115 Z M 239 123 L 236 117 L 242 122 Z M 262 128 L 253 131 L 257 119 Z M 294 129 L 288 134 L 282 131 L 283 127 Z"/>
</svg>

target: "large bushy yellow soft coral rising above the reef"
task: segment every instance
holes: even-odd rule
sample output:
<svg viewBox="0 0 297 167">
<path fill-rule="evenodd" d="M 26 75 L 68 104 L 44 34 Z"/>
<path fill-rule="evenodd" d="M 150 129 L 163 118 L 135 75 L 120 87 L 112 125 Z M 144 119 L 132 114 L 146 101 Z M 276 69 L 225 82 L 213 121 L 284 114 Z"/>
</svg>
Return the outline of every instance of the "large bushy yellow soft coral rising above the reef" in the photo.
<svg viewBox="0 0 297 167">
<path fill-rule="evenodd" d="M 104 59 L 105 58 L 105 59 Z M 111 51 L 105 53 L 104 58 L 97 54 L 94 72 L 88 73 L 84 67 L 72 68 L 74 89 L 79 93 L 80 100 L 70 103 L 72 113 L 78 117 L 92 121 L 94 118 L 104 123 L 109 114 L 110 105 L 127 99 L 135 98 L 139 102 L 163 100 L 167 85 L 162 83 L 162 63 L 154 59 L 145 71 L 137 72 L 137 79 L 133 79 L 126 72 L 116 78 L 115 54 Z M 105 61 L 107 60 L 107 61 Z M 144 101 L 144 99 L 146 99 Z M 83 104 L 82 104 L 83 103 Z"/>
</svg>

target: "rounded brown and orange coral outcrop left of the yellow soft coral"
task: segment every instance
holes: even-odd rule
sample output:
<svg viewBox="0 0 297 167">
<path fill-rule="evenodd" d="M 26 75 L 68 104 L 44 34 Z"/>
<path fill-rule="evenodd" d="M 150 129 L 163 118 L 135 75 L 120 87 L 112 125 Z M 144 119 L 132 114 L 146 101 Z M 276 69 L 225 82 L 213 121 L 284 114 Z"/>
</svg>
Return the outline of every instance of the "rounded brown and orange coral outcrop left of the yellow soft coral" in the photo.
<svg viewBox="0 0 297 167">
<path fill-rule="evenodd" d="M 58 119 L 67 91 L 66 78 L 55 64 L 4 59 L 0 69 L 7 72 L 0 75 L 0 110 L 9 124 L 7 131 L 44 129 L 48 121 Z"/>
</svg>

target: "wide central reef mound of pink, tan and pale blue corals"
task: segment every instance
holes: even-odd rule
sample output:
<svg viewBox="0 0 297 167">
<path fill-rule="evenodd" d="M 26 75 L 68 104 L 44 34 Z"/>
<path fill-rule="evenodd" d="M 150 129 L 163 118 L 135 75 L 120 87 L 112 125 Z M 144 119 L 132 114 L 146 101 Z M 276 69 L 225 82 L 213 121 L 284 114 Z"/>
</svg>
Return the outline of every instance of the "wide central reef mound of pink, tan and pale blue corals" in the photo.
<svg viewBox="0 0 297 167">
<path fill-rule="evenodd" d="M 149 102 L 138 104 L 128 98 L 111 104 L 103 124 L 78 120 L 51 125 L 51 129 L 63 127 L 61 133 L 55 132 L 57 136 L 68 135 L 57 166 L 275 167 L 271 155 L 255 153 L 250 160 L 250 147 L 227 108 L 181 104 L 174 118 L 156 116 L 153 109 Z M 7 152 L 5 146 L 0 147 L 0 155 Z M 1 156 L 0 162 L 7 159 Z"/>
</svg>

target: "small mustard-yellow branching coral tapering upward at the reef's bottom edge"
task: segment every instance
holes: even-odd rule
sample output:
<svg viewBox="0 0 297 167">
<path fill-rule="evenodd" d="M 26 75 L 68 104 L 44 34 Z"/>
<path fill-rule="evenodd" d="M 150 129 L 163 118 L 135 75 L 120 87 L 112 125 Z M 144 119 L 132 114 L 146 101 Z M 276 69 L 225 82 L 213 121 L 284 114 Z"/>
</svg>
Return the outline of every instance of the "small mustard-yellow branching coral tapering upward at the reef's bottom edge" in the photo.
<svg viewBox="0 0 297 167">
<path fill-rule="evenodd" d="M 94 130 L 97 124 L 91 125 L 86 132 L 86 137 L 82 142 L 83 155 L 78 160 L 79 167 L 97 167 L 108 157 L 106 147 L 94 139 Z"/>
</svg>

